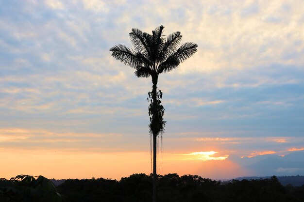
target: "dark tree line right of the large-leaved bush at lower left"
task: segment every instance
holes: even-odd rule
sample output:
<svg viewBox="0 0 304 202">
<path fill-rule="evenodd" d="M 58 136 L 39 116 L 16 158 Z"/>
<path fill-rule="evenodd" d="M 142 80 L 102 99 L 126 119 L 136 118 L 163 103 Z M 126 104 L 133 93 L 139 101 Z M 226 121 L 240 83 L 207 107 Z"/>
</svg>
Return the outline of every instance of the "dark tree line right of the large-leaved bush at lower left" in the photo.
<svg viewBox="0 0 304 202">
<path fill-rule="evenodd" d="M 304 186 L 270 179 L 214 181 L 197 175 L 159 175 L 158 202 L 303 202 Z M 66 202 L 151 202 L 152 175 L 112 179 L 68 179 L 57 187 Z"/>
</svg>

